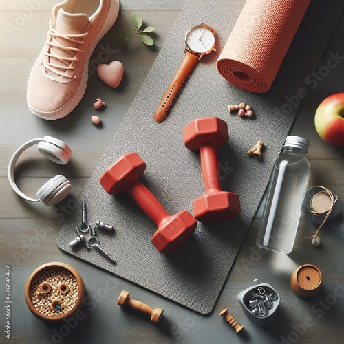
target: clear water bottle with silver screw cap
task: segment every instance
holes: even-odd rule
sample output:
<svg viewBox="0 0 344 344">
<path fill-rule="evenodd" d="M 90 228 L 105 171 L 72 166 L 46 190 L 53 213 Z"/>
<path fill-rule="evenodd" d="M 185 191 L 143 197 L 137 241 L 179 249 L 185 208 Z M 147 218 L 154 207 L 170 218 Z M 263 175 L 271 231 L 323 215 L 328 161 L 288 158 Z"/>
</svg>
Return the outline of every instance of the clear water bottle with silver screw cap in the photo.
<svg viewBox="0 0 344 344">
<path fill-rule="evenodd" d="M 256 241 L 260 248 L 292 252 L 310 177 L 310 164 L 305 158 L 309 146 L 310 141 L 305 138 L 286 138 L 268 184 Z"/>
</svg>

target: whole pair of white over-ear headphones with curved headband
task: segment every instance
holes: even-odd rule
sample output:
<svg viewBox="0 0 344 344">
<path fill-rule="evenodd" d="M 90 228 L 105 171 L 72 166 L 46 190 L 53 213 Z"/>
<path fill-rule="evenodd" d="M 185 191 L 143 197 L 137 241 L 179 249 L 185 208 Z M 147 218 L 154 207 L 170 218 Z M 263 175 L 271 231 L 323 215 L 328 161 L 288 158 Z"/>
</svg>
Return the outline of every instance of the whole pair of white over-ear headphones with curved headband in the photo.
<svg viewBox="0 0 344 344">
<path fill-rule="evenodd" d="M 8 180 L 12 186 L 12 189 L 25 200 L 30 202 L 42 201 L 47 206 L 53 206 L 58 202 L 61 202 L 72 189 L 72 184 L 63 177 L 63 175 L 56 175 L 47 181 L 39 191 L 37 191 L 38 198 L 31 198 L 21 192 L 14 182 L 14 166 L 19 159 L 19 156 L 25 149 L 38 144 L 37 149 L 49 160 L 56 162 L 56 164 L 65 165 L 72 157 L 72 150 L 65 144 L 65 142 L 52 138 L 51 136 L 44 136 L 43 138 L 34 138 L 24 143 L 17 151 L 14 152 L 10 163 L 8 164 Z"/>
</svg>

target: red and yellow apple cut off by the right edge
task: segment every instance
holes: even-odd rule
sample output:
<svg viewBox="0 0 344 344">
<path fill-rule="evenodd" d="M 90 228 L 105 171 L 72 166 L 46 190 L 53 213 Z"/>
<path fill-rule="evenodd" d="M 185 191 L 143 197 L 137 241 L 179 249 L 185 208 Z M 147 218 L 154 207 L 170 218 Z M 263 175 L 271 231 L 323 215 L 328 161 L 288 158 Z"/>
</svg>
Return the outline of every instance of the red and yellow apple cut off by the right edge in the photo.
<svg viewBox="0 0 344 344">
<path fill-rule="evenodd" d="M 344 146 L 344 92 L 332 94 L 320 103 L 314 124 L 327 144 Z"/>
</svg>

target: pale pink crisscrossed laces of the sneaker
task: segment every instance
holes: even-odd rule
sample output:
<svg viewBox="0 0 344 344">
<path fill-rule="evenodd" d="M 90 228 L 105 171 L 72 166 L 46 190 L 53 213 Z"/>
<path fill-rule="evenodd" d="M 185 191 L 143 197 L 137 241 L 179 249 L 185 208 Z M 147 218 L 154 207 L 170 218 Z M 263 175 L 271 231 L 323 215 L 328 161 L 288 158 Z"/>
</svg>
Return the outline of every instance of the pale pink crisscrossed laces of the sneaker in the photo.
<svg viewBox="0 0 344 344">
<path fill-rule="evenodd" d="M 76 43 L 78 45 L 80 44 L 86 44 L 84 41 L 82 41 L 84 36 L 87 36 L 88 32 L 85 32 L 85 34 L 61 34 L 61 32 L 58 32 L 53 26 L 52 26 L 53 19 L 50 20 L 49 26 L 50 30 L 48 34 L 52 36 L 52 40 L 47 40 L 47 45 L 50 45 L 50 52 L 45 52 L 45 56 L 48 56 L 49 58 L 56 58 L 56 60 L 61 61 L 63 65 L 56 65 L 52 62 L 42 62 L 43 67 L 50 70 L 50 72 L 53 72 L 57 74 L 58 76 L 61 76 L 63 78 L 72 79 L 76 76 L 70 76 L 69 74 L 66 74 L 68 70 L 74 70 L 75 67 L 72 66 L 73 62 L 77 62 L 78 58 L 76 58 L 77 52 L 83 52 L 78 47 L 67 47 L 65 45 L 62 45 L 57 41 L 57 39 L 65 39 L 66 41 Z M 73 57 L 66 57 L 66 56 L 58 56 L 54 51 L 51 49 L 52 47 L 56 47 L 58 49 L 61 49 L 69 54 L 72 54 Z"/>
</svg>

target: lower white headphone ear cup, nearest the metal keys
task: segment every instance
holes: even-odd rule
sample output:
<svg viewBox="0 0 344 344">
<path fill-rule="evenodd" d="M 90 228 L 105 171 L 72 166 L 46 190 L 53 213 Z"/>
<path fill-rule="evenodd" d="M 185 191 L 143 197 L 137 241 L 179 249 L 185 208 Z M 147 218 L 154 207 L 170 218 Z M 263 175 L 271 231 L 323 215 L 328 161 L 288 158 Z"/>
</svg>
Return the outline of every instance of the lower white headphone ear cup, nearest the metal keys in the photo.
<svg viewBox="0 0 344 344">
<path fill-rule="evenodd" d="M 67 197 L 72 184 L 63 175 L 56 175 L 37 191 L 37 197 L 46 205 L 53 206 Z"/>
</svg>

